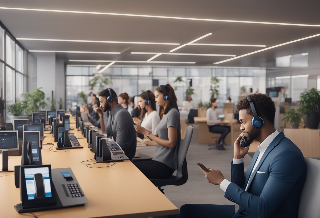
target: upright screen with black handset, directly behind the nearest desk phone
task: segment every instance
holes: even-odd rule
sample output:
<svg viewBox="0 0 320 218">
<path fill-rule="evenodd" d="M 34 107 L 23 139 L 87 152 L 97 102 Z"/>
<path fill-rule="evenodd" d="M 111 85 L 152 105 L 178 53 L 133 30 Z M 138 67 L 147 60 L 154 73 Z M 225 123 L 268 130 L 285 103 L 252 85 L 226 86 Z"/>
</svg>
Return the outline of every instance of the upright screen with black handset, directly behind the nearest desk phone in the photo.
<svg viewBox="0 0 320 218">
<path fill-rule="evenodd" d="M 21 165 L 42 164 L 40 132 L 24 131 Z"/>
</svg>

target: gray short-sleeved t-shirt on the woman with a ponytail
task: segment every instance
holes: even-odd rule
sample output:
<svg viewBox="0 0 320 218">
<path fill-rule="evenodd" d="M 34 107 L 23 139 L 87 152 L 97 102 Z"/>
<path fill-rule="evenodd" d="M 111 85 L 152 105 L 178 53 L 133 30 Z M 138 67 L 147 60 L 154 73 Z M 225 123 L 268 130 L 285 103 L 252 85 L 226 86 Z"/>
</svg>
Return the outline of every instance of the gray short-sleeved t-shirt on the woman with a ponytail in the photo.
<svg viewBox="0 0 320 218">
<path fill-rule="evenodd" d="M 154 161 L 159 161 L 173 170 L 177 169 L 177 154 L 181 141 L 180 133 L 180 114 L 175 108 L 171 108 L 170 111 L 162 118 L 158 127 L 157 133 L 159 138 L 164 140 L 169 140 L 168 137 L 168 127 L 174 127 L 177 129 L 177 142 L 176 146 L 171 148 L 166 148 L 162 145 L 157 145 L 155 150 L 155 156 L 152 158 Z"/>
</svg>

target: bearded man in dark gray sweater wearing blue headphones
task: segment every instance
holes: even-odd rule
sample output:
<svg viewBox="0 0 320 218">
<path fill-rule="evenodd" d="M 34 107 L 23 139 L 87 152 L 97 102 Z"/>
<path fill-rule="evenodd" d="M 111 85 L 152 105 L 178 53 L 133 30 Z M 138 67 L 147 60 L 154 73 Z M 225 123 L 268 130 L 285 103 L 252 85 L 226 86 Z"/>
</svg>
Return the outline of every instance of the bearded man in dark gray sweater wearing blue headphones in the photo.
<svg viewBox="0 0 320 218">
<path fill-rule="evenodd" d="M 100 92 L 99 101 L 103 112 L 110 110 L 108 119 L 110 133 L 107 134 L 110 134 L 110 138 L 120 145 L 124 154 L 132 161 L 137 148 L 137 134 L 131 114 L 118 104 L 117 94 L 111 88 Z M 103 117 L 100 120 L 103 120 Z"/>
</svg>

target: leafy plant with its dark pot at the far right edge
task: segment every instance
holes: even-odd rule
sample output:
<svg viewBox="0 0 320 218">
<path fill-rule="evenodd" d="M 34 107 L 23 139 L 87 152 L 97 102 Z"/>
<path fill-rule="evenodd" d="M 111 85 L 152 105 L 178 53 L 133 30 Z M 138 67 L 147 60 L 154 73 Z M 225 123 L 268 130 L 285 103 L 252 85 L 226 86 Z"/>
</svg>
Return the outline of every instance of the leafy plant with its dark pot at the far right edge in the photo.
<svg viewBox="0 0 320 218">
<path fill-rule="evenodd" d="M 300 94 L 299 111 L 307 116 L 307 126 L 317 129 L 320 123 L 320 91 L 312 88 Z"/>
</svg>

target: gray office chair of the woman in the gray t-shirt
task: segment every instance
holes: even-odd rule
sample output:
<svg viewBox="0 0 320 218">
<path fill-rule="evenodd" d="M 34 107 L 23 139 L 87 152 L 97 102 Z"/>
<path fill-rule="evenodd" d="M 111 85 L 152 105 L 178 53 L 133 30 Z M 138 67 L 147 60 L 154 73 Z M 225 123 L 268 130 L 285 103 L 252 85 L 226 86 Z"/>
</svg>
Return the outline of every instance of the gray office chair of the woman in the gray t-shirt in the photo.
<svg viewBox="0 0 320 218">
<path fill-rule="evenodd" d="M 178 157 L 177 157 L 177 174 L 175 176 L 170 176 L 165 179 L 152 179 L 150 181 L 158 187 L 158 189 L 164 194 L 164 189 L 161 187 L 166 185 L 183 185 L 188 180 L 188 167 L 187 167 L 187 159 L 186 155 L 189 149 L 189 145 L 191 142 L 191 137 L 193 133 L 193 127 L 187 127 L 186 136 L 184 139 L 181 139 L 180 147 L 178 149 Z"/>
</svg>

